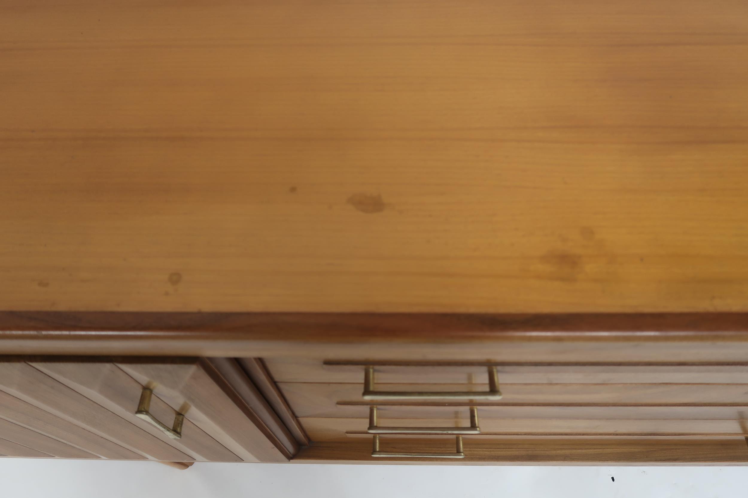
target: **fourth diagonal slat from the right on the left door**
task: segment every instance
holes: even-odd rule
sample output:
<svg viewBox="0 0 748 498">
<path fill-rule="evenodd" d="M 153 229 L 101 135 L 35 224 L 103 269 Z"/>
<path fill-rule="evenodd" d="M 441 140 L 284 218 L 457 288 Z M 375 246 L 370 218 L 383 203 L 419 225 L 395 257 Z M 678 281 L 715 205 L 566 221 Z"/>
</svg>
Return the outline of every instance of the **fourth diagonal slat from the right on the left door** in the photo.
<svg viewBox="0 0 748 498">
<path fill-rule="evenodd" d="M 102 458 L 144 460 L 146 457 L 102 436 L 0 391 L 0 417 L 19 426 L 85 449 Z"/>
</svg>

